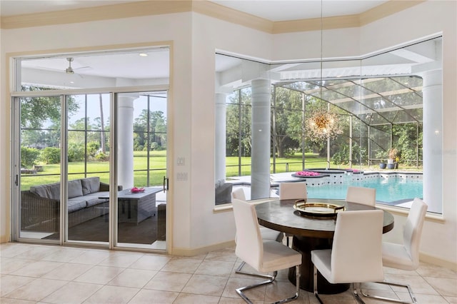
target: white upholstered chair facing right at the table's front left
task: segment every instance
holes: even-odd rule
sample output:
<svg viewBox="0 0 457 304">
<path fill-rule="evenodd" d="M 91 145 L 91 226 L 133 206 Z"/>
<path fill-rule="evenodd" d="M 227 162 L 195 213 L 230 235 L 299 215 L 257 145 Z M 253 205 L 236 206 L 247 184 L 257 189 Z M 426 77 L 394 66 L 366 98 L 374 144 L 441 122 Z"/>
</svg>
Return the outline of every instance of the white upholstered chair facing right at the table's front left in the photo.
<svg viewBox="0 0 457 304">
<path fill-rule="evenodd" d="M 233 214 L 236 225 L 236 249 L 238 258 L 246 261 L 256 271 L 271 273 L 268 280 L 237 288 L 236 293 L 247 303 L 252 303 L 243 293 L 245 290 L 272 283 L 278 270 L 296 267 L 296 293 L 276 303 L 286 303 L 298 298 L 300 292 L 301 254 L 274 240 L 263 240 L 258 225 L 256 208 L 253 204 L 233 198 Z"/>
</svg>

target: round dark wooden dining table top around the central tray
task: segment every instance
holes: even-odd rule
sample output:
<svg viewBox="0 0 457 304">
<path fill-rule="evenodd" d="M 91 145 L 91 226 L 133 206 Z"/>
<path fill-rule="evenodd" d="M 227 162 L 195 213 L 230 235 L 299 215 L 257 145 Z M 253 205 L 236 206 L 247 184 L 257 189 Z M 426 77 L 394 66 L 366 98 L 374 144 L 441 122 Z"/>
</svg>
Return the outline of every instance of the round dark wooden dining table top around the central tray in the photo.
<svg viewBox="0 0 457 304">
<path fill-rule="evenodd" d="M 293 208 L 296 200 L 272 200 L 256 205 L 258 223 L 273 230 L 313 238 L 333 238 L 336 218 L 303 216 Z M 307 203 L 344 205 L 346 211 L 376 209 L 359 203 L 341 200 L 308 199 Z M 393 216 L 384 211 L 383 233 L 393 229 Z"/>
</svg>

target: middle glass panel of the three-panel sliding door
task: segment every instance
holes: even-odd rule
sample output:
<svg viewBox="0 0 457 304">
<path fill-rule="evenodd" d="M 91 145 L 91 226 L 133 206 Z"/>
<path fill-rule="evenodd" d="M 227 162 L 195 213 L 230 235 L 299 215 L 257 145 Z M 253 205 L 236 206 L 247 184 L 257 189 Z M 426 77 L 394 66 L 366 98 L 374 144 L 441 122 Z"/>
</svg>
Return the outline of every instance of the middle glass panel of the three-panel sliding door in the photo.
<svg viewBox="0 0 457 304">
<path fill-rule="evenodd" d="M 66 96 L 68 240 L 109 242 L 109 94 Z"/>
</svg>

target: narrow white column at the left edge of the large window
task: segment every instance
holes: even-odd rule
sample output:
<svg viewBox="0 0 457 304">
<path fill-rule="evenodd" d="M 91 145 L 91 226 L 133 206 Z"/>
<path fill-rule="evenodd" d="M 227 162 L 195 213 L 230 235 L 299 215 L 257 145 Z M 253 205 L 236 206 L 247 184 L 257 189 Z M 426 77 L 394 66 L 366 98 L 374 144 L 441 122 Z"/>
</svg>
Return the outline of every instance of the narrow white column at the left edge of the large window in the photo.
<svg viewBox="0 0 457 304">
<path fill-rule="evenodd" d="M 215 179 L 226 178 L 226 94 L 216 93 L 216 138 L 214 139 Z"/>
</svg>

